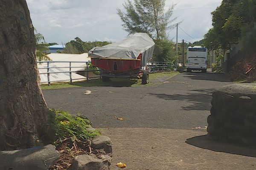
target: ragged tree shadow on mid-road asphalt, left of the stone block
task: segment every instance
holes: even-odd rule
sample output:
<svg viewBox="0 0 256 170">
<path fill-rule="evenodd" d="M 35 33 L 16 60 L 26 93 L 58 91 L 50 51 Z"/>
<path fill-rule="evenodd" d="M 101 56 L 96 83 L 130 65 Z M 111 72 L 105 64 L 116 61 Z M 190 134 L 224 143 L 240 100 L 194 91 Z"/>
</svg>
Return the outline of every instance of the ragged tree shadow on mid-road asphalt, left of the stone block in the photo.
<svg viewBox="0 0 256 170">
<path fill-rule="evenodd" d="M 186 105 L 181 107 L 185 111 L 209 111 L 211 109 L 212 91 L 214 90 L 215 89 L 191 90 L 198 93 L 189 94 L 148 94 L 165 100 L 185 101 Z"/>
</svg>

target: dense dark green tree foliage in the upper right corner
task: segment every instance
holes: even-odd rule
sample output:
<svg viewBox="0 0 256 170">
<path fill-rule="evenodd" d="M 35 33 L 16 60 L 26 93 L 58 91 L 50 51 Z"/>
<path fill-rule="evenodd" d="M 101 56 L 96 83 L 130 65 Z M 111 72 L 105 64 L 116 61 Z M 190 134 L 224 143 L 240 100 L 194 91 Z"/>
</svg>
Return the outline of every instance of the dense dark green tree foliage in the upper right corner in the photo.
<svg viewBox="0 0 256 170">
<path fill-rule="evenodd" d="M 238 42 L 243 50 L 255 52 L 256 45 L 256 1 L 223 0 L 221 6 L 212 12 L 212 26 L 204 36 L 209 49 L 232 48 Z"/>
</svg>

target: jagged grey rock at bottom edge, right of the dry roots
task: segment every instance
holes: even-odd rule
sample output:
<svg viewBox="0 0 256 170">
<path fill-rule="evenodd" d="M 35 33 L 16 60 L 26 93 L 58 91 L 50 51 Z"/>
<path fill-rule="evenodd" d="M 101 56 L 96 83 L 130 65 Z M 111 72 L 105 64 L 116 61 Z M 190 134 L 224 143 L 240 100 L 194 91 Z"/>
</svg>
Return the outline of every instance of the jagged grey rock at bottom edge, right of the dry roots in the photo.
<svg viewBox="0 0 256 170">
<path fill-rule="evenodd" d="M 73 159 L 68 170 L 110 170 L 111 157 L 102 155 L 101 159 L 95 155 L 79 155 Z"/>
</svg>

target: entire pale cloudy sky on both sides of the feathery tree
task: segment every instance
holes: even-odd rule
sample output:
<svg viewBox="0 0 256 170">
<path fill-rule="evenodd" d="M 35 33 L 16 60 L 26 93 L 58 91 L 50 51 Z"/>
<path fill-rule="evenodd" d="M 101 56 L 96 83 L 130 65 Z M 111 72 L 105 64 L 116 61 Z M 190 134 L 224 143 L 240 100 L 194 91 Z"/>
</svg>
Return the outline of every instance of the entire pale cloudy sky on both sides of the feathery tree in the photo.
<svg viewBox="0 0 256 170">
<path fill-rule="evenodd" d="M 124 11 L 126 0 L 26 0 L 33 26 L 44 35 L 46 42 L 65 44 L 75 37 L 83 41 L 111 41 L 125 39 L 116 8 Z M 176 4 L 172 18 L 182 21 L 178 41 L 201 40 L 212 27 L 211 12 L 222 0 L 166 0 L 166 9 Z M 186 33 L 184 33 L 183 31 Z M 189 35 L 187 35 L 189 34 Z M 169 31 L 176 41 L 176 29 Z"/>
</svg>

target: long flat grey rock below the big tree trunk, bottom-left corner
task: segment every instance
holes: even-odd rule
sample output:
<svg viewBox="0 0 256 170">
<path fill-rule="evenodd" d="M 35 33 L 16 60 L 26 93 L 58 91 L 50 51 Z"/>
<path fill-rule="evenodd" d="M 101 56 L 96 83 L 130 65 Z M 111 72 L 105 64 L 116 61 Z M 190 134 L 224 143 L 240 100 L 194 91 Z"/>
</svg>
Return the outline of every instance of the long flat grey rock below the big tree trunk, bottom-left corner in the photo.
<svg viewBox="0 0 256 170">
<path fill-rule="evenodd" d="M 0 151 L 0 170 L 47 170 L 59 159 L 55 146 Z"/>
</svg>

